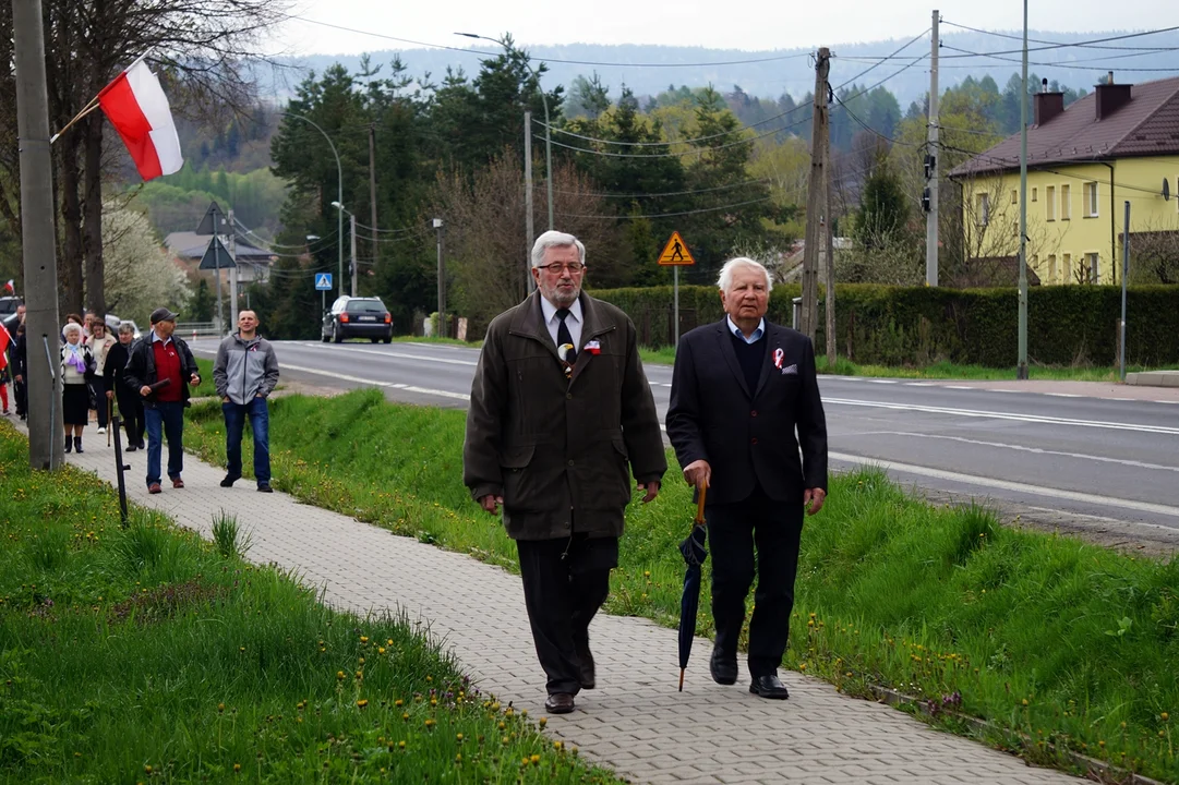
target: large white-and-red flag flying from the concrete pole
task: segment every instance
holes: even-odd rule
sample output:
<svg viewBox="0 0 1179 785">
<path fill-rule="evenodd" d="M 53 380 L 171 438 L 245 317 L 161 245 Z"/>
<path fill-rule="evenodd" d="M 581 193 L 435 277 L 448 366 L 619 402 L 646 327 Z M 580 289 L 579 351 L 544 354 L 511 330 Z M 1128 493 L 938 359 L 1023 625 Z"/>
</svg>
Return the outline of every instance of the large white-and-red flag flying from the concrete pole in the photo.
<svg viewBox="0 0 1179 785">
<path fill-rule="evenodd" d="M 172 110 L 159 79 L 137 60 L 98 94 L 106 117 L 145 180 L 180 171 L 184 157 L 176 136 Z"/>
</svg>

